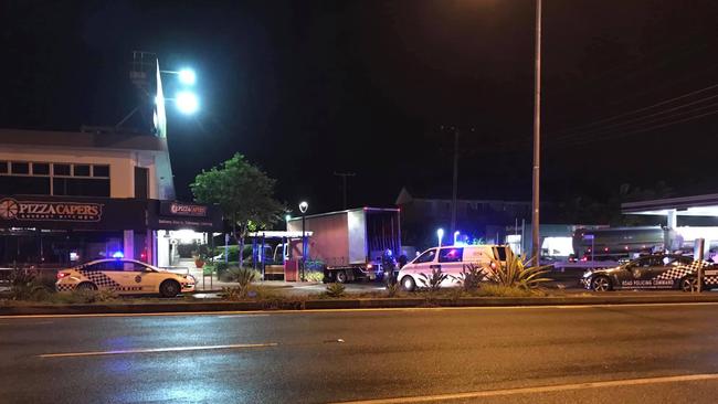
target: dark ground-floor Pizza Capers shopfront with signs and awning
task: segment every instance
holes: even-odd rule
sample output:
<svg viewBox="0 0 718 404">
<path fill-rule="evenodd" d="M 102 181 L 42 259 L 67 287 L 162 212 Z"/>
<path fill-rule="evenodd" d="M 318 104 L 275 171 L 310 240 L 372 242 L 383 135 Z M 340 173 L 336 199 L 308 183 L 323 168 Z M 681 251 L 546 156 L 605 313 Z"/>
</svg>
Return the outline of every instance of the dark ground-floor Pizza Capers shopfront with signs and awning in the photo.
<svg viewBox="0 0 718 404">
<path fill-rule="evenodd" d="M 172 201 L 0 195 L 0 267 L 120 255 L 157 264 L 158 233 L 179 228 L 221 231 L 222 219 L 214 206 Z"/>
</svg>

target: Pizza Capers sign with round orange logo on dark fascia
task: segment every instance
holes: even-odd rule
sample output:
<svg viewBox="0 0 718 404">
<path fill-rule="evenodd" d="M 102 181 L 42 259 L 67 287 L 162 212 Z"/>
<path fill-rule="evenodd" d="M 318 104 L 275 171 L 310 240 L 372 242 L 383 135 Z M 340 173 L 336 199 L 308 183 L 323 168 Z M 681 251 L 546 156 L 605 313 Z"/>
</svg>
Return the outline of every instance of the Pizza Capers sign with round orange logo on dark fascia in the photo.
<svg viewBox="0 0 718 404">
<path fill-rule="evenodd" d="M 99 222 L 102 215 L 99 203 L 0 200 L 0 219 L 8 221 Z"/>
</svg>

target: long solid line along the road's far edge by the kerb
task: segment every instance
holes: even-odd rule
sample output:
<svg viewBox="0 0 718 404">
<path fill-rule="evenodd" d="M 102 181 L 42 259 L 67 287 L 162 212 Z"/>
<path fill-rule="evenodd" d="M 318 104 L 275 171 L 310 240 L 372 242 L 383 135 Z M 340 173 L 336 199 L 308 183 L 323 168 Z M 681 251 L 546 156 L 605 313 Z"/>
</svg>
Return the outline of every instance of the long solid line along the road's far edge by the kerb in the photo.
<svg viewBox="0 0 718 404">
<path fill-rule="evenodd" d="M 160 317 L 160 316 L 215 316 L 225 317 L 242 315 L 246 317 L 266 317 L 273 315 L 303 315 L 314 312 L 372 312 L 372 311 L 441 311 L 441 310 L 541 310 L 541 309 L 591 309 L 622 307 L 675 307 L 675 306 L 718 306 L 718 301 L 695 302 L 659 302 L 659 304 L 626 304 L 626 305 L 552 305 L 552 306 L 490 306 L 490 307 L 403 307 L 403 308 L 358 308 L 358 309 L 307 309 L 307 310 L 271 310 L 271 311 L 182 311 L 182 312 L 139 312 L 139 313 L 92 313 L 92 315 L 22 315 L 0 316 L 2 320 L 28 318 L 84 318 L 84 317 Z"/>
</svg>

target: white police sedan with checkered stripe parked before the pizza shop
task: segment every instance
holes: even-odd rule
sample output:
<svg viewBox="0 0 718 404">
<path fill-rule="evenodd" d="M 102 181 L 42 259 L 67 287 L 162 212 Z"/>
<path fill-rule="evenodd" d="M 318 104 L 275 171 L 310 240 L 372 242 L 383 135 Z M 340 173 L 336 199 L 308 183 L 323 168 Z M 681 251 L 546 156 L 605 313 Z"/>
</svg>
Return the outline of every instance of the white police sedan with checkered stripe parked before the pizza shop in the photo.
<svg viewBox="0 0 718 404">
<path fill-rule="evenodd" d="M 57 291 L 114 290 L 175 297 L 194 290 L 194 278 L 162 270 L 135 259 L 97 259 L 57 273 Z"/>
</svg>

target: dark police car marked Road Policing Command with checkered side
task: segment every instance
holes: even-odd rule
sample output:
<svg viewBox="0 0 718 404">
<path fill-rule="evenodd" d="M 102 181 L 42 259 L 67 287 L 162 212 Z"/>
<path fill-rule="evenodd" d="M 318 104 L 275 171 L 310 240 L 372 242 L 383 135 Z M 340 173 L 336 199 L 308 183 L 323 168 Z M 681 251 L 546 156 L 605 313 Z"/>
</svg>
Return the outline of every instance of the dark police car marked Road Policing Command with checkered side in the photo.
<svg viewBox="0 0 718 404">
<path fill-rule="evenodd" d="M 698 288 L 698 269 L 704 269 L 706 288 L 718 287 L 718 267 L 690 256 L 653 254 L 612 268 L 589 270 L 581 283 L 587 289 L 608 291 L 615 289 L 680 289 Z"/>
</svg>

